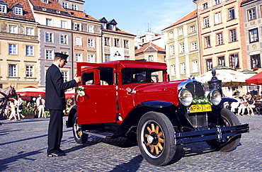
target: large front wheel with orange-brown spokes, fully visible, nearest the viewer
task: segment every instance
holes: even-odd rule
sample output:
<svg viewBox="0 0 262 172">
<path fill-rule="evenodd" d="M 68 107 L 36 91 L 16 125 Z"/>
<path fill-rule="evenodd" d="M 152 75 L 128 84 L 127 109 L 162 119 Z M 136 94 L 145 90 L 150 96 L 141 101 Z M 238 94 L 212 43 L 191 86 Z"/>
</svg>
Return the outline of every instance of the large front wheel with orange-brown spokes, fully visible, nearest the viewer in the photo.
<svg viewBox="0 0 262 172">
<path fill-rule="evenodd" d="M 137 144 L 149 164 L 169 164 L 176 153 L 174 130 L 169 118 L 163 113 L 145 113 L 137 126 Z"/>
</svg>

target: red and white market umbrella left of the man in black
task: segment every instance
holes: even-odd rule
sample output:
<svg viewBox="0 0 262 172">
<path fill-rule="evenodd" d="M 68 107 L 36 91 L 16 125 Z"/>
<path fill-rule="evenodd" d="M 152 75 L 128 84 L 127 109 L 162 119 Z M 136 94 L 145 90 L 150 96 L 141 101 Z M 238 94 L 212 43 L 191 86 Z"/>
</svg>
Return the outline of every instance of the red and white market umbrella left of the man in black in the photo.
<svg viewBox="0 0 262 172">
<path fill-rule="evenodd" d="M 36 88 L 35 86 L 26 86 L 25 88 L 17 90 L 16 93 L 20 94 L 23 99 L 28 101 L 30 100 L 30 96 L 38 97 L 41 95 L 42 97 L 45 97 L 45 91 L 40 88 Z"/>
</svg>

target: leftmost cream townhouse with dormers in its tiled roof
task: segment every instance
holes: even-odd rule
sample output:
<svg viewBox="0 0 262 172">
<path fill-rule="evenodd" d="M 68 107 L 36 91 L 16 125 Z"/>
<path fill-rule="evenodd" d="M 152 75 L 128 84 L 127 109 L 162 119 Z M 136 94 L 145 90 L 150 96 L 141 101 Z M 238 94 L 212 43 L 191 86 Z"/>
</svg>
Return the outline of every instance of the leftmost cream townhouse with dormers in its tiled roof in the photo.
<svg viewBox="0 0 262 172">
<path fill-rule="evenodd" d="M 0 1 L 0 88 L 38 86 L 36 24 L 28 1 Z"/>
</svg>

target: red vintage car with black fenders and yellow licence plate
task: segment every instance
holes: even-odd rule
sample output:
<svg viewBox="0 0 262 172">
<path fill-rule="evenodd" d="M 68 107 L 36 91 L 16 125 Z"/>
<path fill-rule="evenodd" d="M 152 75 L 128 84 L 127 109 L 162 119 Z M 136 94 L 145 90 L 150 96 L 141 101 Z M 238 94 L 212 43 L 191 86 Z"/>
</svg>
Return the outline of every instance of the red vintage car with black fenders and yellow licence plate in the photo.
<svg viewBox="0 0 262 172">
<path fill-rule="evenodd" d="M 136 137 L 150 164 L 169 164 L 177 144 L 205 141 L 217 151 L 232 151 L 249 125 L 222 108 L 214 89 L 205 95 L 194 78 L 168 81 L 166 64 L 115 61 L 77 63 L 81 85 L 67 120 L 74 139 L 85 144 L 89 134 L 115 139 Z"/>
</svg>

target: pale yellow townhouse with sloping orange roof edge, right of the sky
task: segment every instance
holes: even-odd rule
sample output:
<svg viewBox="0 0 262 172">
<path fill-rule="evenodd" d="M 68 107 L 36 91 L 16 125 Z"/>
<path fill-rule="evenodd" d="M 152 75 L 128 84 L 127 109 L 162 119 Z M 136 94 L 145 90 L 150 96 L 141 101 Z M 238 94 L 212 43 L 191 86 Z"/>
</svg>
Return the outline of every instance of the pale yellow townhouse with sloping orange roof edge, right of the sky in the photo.
<svg viewBox="0 0 262 172">
<path fill-rule="evenodd" d="M 186 79 L 200 74 L 197 11 L 194 10 L 164 28 L 166 64 L 170 79 Z"/>
</svg>

